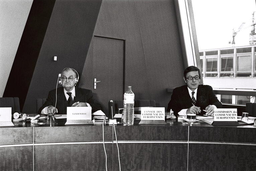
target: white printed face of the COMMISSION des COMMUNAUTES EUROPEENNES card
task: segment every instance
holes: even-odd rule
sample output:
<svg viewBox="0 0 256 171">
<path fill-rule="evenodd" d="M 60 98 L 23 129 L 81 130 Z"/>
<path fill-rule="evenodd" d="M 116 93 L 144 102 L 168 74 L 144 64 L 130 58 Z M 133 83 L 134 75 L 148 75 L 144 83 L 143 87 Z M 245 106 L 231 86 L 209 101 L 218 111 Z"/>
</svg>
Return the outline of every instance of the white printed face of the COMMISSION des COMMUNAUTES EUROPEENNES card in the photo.
<svg viewBox="0 0 256 171">
<path fill-rule="evenodd" d="M 214 121 L 237 121 L 237 109 L 214 109 Z"/>
</svg>

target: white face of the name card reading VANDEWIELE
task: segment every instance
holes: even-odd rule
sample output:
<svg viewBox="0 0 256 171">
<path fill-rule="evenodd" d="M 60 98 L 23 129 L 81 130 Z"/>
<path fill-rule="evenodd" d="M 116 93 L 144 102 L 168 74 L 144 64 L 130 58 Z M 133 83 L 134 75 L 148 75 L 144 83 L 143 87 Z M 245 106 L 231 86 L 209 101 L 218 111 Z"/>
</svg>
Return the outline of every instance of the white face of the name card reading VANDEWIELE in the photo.
<svg viewBox="0 0 256 171">
<path fill-rule="evenodd" d="M 91 120 L 92 107 L 67 107 L 67 120 Z"/>
</svg>

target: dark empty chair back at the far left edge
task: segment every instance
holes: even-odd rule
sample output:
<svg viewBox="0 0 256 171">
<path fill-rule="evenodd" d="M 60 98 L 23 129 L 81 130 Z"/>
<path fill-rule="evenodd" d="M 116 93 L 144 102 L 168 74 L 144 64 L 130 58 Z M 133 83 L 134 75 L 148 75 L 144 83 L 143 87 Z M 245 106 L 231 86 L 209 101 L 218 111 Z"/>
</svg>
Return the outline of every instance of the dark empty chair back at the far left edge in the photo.
<svg viewBox="0 0 256 171">
<path fill-rule="evenodd" d="M 19 98 L 0 98 L 0 107 L 11 107 L 12 114 L 14 114 L 15 112 L 20 112 Z"/>
</svg>

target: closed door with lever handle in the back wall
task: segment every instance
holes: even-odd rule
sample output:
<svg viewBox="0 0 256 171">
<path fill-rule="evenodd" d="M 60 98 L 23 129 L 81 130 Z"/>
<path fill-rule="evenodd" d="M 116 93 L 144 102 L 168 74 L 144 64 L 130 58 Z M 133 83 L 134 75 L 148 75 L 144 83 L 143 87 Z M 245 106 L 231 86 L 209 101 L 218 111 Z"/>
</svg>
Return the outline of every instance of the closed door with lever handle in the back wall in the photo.
<svg viewBox="0 0 256 171">
<path fill-rule="evenodd" d="M 93 76 L 98 101 L 108 115 L 108 102 L 123 99 L 124 40 L 94 36 Z"/>
</svg>

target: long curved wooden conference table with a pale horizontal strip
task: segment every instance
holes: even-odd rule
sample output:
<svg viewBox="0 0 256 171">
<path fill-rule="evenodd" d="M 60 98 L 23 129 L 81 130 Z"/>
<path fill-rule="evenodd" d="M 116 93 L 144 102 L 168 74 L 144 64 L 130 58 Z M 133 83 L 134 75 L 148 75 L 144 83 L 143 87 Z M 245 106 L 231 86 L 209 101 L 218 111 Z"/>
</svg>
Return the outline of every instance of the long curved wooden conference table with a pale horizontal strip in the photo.
<svg viewBox="0 0 256 171">
<path fill-rule="evenodd" d="M 46 122 L 46 120 L 39 120 Z M 0 170 L 256 170 L 256 126 L 212 126 L 167 119 L 166 125 L 0 127 Z M 115 130 L 114 130 L 115 128 Z M 116 145 L 117 137 L 118 148 Z"/>
</svg>

